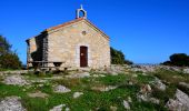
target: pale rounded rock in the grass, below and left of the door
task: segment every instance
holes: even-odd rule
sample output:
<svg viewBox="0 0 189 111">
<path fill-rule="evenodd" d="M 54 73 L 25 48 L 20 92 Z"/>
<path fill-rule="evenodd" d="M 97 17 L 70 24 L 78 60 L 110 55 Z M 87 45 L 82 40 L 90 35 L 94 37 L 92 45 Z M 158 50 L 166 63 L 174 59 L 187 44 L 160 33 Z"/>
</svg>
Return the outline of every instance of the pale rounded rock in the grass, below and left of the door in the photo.
<svg viewBox="0 0 189 111">
<path fill-rule="evenodd" d="M 66 88 L 64 85 L 56 85 L 53 88 L 53 91 L 57 93 L 67 93 L 67 92 L 70 92 L 71 90 Z"/>
</svg>

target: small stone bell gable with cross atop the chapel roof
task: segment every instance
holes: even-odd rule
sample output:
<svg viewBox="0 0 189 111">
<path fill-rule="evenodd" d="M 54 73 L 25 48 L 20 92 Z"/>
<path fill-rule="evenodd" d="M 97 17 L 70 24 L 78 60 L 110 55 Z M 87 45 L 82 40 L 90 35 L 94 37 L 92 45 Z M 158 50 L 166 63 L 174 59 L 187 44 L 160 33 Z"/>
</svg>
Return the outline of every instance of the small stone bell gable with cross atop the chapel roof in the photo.
<svg viewBox="0 0 189 111">
<path fill-rule="evenodd" d="M 82 4 L 80 9 L 77 9 L 77 12 L 76 12 L 76 19 L 79 19 L 79 18 L 87 19 L 87 11 L 82 8 Z"/>
</svg>

